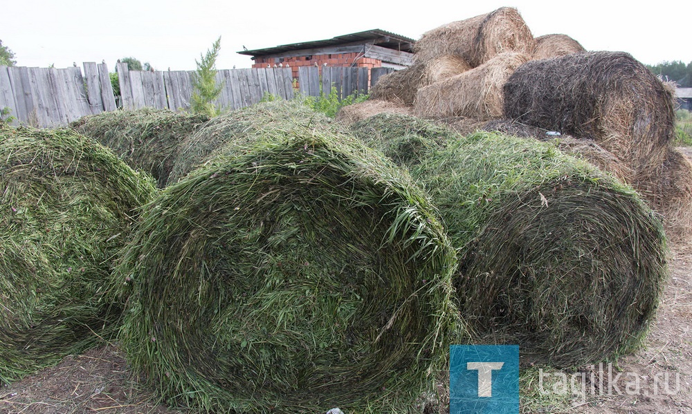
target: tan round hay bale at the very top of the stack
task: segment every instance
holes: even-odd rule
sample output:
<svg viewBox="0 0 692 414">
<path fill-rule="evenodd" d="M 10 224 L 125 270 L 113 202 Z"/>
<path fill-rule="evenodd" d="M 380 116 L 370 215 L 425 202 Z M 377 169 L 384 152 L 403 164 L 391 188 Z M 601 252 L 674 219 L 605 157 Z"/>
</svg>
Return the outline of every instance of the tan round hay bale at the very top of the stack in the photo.
<svg viewBox="0 0 692 414">
<path fill-rule="evenodd" d="M 425 32 L 414 46 L 414 57 L 424 63 L 441 55 L 459 55 L 475 68 L 500 53 L 531 55 L 534 48 L 534 36 L 516 8 L 502 7 Z"/>
</svg>

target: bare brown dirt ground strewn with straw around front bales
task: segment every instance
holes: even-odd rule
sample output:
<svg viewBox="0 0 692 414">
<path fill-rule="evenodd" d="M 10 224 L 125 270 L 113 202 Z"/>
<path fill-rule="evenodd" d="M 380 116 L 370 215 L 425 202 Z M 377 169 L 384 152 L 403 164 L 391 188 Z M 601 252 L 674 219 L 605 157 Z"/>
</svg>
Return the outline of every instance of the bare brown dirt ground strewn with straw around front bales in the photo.
<svg viewBox="0 0 692 414">
<path fill-rule="evenodd" d="M 692 158 L 692 148 L 683 151 Z M 692 243 L 671 246 L 669 265 L 671 277 L 644 347 L 610 370 L 594 366 L 570 375 L 568 391 L 575 397 L 567 412 L 692 413 Z M 115 345 L 0 388 L 0 413 L 187 413 L 158 403 Z M 551 412 L 549 406 L 540 410 Z"/>
</svg>

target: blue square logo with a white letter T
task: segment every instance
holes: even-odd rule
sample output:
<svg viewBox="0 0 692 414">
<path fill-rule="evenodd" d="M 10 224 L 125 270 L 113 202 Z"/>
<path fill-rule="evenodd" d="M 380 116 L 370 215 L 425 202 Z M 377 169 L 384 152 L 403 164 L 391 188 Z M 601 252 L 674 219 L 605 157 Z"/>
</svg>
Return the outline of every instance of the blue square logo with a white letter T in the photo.
<svg viewBox="0 0 692 414">
<path fill-rule="evenodd" d="M 449 413 L 518 414 L 519 346 L 450 346 Z"/>
</svg>

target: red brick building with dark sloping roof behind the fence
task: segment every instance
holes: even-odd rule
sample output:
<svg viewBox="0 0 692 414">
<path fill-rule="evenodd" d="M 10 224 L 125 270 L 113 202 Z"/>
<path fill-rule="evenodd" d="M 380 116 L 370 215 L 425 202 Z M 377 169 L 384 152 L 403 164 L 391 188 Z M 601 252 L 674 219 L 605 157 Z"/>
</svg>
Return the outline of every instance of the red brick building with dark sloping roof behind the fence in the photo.
<svg viewBox="0 0 692 414">
<path fill-rule="evenodd" d="M 253 68 L 289 66 L 293 78 L 297 79 L 300 66 L 403 69 L 412 64 L 414 43 L 414 39 L 374 29 L 332 39 L 242 50 L 238 53 L 250 55 L 254 61 Z"/>
</svg>

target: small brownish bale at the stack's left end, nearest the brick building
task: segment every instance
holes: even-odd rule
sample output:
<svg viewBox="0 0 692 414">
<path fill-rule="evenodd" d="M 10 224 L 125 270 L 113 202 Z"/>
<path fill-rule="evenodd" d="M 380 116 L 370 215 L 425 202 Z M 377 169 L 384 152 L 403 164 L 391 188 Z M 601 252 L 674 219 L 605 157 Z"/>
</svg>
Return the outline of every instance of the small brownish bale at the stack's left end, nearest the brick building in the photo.
<svg viewBox="0 0 692 414">
<path fill-rule="evenodd" d="M 412 106 L 416 92 L 424 82 L 425 70 L 424 64 L 413 64 L 380 77 L 370 89 L 370 99 Z"/>
</svg>

